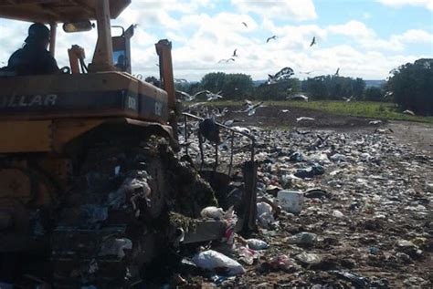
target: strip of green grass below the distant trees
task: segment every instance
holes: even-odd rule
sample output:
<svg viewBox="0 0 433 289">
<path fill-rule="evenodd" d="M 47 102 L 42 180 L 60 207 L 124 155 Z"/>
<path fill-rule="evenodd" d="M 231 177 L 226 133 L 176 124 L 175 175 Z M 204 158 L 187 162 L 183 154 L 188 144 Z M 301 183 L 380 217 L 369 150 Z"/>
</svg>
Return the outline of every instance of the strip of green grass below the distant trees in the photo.
<svg viewBox="0 0 433 289">
<path fill-rule="evenodd" d="M 242 105 L 241 101 L 216 101 L 213 102 L 216 106 L 237 106 Z M 392 120 L 407 120 L 426 122 L 433 124 L 433 117 L 418 117 L 403 114 L 399 112 L 393 103 L 388 102 L 369 102 L 369 101 L 265 101 L 267 106 L 278 106 L 285 108 L 310 108 L 323 110 L 333 114 L 344 116 L 364 117 L 371 119 L 392 119 Z"/>
</svg>

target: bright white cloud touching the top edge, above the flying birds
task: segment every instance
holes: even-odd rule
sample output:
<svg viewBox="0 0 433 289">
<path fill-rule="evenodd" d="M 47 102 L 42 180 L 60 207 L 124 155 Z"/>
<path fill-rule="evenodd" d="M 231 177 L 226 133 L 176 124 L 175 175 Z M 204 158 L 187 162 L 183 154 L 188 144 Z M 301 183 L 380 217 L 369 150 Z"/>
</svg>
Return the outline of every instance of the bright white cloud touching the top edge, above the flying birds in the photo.
<svg viewBox="0 0 433 289">
<path fill-rule="evenodd" d="M 231 0 L 242 13 L 253 12 L 269 18 L 289 18 L 293 20 L 312 20 L 317 18 L 312 0 Z"/>
</svg>

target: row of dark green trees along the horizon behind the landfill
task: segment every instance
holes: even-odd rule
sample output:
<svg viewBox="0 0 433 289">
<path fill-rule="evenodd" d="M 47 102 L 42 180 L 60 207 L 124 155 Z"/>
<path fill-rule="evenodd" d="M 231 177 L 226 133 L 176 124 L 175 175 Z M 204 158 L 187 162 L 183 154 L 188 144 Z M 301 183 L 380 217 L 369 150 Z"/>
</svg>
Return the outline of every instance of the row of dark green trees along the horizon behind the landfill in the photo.
<svg viewBox="0 0 433 289">
<path fill-rule="evenodd" d="M 367 88 L 364 79 L 359 77 L 335 75 L 309 77 L 302 81 L 290 75 L 276 83 L 263 82 L 257 86 L 246 74 L 223 72 L 208 73 L 196 83 L 176 82 L 175 86 L 189 94 L 203 89 L 220 92 L 227 100 L 284 100 L 301 93 L 320 100 L 394 101 L 402 110 L 433 115 L 433 59 L 418 59 L 413 64 L 393 69 L 390 74 L 391 77 L 380 88 Z"/>
</svg>

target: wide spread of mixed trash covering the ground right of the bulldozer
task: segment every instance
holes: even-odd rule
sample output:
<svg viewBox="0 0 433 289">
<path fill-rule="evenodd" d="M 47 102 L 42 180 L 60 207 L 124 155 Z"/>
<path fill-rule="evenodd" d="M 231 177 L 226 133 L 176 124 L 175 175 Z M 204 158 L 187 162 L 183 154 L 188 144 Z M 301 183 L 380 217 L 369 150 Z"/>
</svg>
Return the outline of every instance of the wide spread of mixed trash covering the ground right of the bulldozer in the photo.
<svg viewBox="0 0 433 289">
<path fill-rule="evenodd" d="M 248 131 L 258 140 L 259 230 L 190 256 L 198 274 L 182 274 L 184 285 L 433 286 L 431 155 L 397 143 L 386 129 Z M 226 141 L 223 135 L 221 152 L 230 150 Z M 240 164 L 249 139 L 236 144 Z M 204 146 L 212 163 L 214 145 Z M 188 147 L 195 163 L 199 154 Z M 218 158 L 227 163 L 229 154 Z"/>
</svg>

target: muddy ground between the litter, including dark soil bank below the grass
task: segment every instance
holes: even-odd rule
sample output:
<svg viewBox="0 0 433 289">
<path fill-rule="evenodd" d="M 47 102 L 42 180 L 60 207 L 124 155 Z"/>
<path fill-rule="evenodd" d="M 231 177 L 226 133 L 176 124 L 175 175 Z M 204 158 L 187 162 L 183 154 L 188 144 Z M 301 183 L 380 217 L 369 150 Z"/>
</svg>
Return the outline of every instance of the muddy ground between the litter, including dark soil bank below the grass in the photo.
<svg viewBox="0 0 433 289">
<path fill-rule="evenodd" d="M 259 226 L 248 237 L 269 243 L 253 264 L 238 260 L 246 274 L 176 275 L 181 286 L 246 288 L 401 288 L 433 287 L 433 127 L 427 124 L 335 116 L 303 108 L 259 108 L 253 116 L 229 108 L 221 121 L 261 129 L 259 196 L 269 186 L 326 194 L 306 198 L 300 214 L 274 212 L 275 224 Z M 290 112 L 283 112 L 289 109 Z M 308 117 L 313 121 L 297 121 Z M 317 142 L 317 135 L 325 138 Z M 319 158 L 324 173 L 303 180 L 284 177 L 311 162 L 290 161 L 293 151 Z M 344 160 L 328 160 L 343 154 Z M 345 159 L 347 158 L 347 159 Z M 319 158 L 320 159 L 320 158 Z M 235 160 L 237 160 L 235 158 Z M 239 159 L 240 160 L 240 159 Z M 310 244 L 289 243 L 299 232 L 311 232 Z M 237 246 L 241 245 L 238 239 Z M 319 261 L 300 261 L 310 253 Z M 275 267 L 276 257 L 289 262 Z M 173 279 L 172 279 L 173 280 Z M 185 283 L 186 282 L 186 283 Z"/>
</svg>

